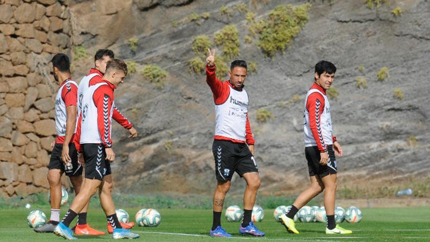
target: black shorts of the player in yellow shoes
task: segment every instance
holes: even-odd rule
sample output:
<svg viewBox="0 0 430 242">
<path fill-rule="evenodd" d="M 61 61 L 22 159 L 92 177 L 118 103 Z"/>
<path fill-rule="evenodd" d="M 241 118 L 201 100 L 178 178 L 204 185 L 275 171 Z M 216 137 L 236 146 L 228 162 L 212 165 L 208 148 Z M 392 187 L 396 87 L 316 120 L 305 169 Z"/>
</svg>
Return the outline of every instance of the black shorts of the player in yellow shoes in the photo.
<svg viewBox="0 0 430 242">
<path fill-rule="evenodd" d="M 321 154 L 317 146 L 306 147 L 304 154 L 307 159 L 307 167 L 309 168 L 309 176 L 320 176 L 324 177 L 329 174 L 336 174 L 337 164 L 336 156 L 334 155 L 333 146 L 327 145 L 328 162 L 327 165 L 320 165 Z"/>
</svg>

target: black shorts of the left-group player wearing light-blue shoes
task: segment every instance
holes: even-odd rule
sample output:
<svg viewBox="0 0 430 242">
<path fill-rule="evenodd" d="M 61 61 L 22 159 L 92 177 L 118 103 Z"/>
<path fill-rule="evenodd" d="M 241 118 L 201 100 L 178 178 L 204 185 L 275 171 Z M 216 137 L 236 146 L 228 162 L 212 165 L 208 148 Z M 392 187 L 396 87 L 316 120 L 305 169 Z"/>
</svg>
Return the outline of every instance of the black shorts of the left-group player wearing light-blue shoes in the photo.
<svg viewBox="0 0 430 242">
<path fill-rule="evenodd" d="M 106 159 L 105 147 L 101 144 L 83 144 L 82 150 L 85 160 L 85 178 L 103 180 L 112 174 L 110 161 Z"/>
</svg>

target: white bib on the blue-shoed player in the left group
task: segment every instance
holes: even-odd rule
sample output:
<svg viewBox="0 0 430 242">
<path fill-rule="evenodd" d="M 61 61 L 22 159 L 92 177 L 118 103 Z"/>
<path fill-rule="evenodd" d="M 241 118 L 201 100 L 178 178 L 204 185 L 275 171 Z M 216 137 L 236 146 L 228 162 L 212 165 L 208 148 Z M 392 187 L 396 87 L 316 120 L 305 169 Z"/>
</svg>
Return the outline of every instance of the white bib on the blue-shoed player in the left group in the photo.
<svg viewBox="0 0 430 242">
<path fill-rule="evenodd" d="M 102 135 L 99 132 L 97 124 L 97 107 L 93 101 L 93 95 L 97 88 L 107 83 L 98 83 L 86 89 L 82 99 L 82 120 L 81 120 L 81 144 L 102 144 Z M 108 100 L 105 99 L 106 107 Z M 105 119 L 112 119 L 113 105 Z M 110 127 L 112 129 L 112 126 Z M 109 133 L 111 130 L 109 130 Z M 104 134 L 106 135 L 106 134 Z"/>
</svg>

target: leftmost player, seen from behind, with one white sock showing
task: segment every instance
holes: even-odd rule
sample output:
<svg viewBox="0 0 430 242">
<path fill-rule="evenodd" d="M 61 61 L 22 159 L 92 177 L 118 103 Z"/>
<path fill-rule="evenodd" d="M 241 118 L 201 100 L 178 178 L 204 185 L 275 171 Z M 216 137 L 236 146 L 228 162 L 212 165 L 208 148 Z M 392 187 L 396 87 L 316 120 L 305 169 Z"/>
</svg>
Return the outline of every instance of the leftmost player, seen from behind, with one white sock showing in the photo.
<svg viewBox="0 0 430 242">
<path fill-rule="evenodd" d="M 65 173 L 77 195 L 82 183 L 82 166 L 78 164 L 73 136 L 76 126 L 77 84 L 70 78 L 70 61 L 65 54 L 56 54 L 52 58 L 54 79 L 60 85 L 55 98 L 55 126 L 57 137 L 49 160 L 49 192 L 51 198 L 51 217 L 42 227 L 35 228 L 36 232 L 54 232 L 60 221 L 61 176 Z M 95 234 L 103 232 L 92 229 L 86 223 L 86 212 L 80 213 L 79 224 L 85 224 L 88 231 Z"/>
</svg>

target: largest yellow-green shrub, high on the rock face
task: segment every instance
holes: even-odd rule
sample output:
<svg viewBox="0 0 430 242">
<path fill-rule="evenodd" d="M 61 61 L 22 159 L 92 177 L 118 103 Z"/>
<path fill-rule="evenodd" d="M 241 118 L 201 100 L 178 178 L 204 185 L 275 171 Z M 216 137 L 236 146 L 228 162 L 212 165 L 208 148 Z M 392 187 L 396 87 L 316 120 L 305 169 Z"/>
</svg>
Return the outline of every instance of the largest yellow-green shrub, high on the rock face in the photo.
<svg viewBox="0 0 430 242">
<path fill-rule="evenodd" d="M 266 20 L 259 22 L 247 16 L 251 21 L 249 32 L 251 35 L 258 34 L 257 45 L 266 56 L 273 56 L 278 51 L 285 52 L 285 48 L 307 22 L 307 10 L 311 6 L 310 3 L 296 7 L 280 5 L 269 13 Z"/>
</svg>

